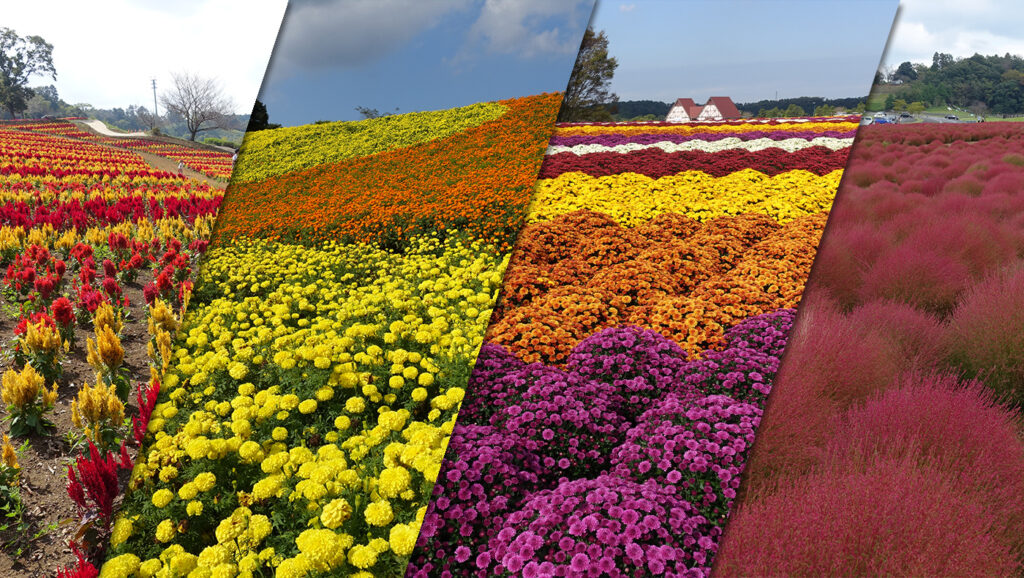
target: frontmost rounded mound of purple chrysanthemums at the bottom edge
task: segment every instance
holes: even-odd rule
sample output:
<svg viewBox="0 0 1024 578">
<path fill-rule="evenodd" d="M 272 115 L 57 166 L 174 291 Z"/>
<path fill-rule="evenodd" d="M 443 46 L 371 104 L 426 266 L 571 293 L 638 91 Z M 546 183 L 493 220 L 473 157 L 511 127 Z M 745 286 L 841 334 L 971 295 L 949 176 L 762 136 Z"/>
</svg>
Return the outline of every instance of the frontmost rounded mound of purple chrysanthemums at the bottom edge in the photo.
<svg viewBox="0 0 1024 578">
<path fill-rule="evenodd" d="M 523 577 L 697 577 L 720 533 L 671 487 L 601 474 L 530 496 L 474 563 Z"/>
</svg>

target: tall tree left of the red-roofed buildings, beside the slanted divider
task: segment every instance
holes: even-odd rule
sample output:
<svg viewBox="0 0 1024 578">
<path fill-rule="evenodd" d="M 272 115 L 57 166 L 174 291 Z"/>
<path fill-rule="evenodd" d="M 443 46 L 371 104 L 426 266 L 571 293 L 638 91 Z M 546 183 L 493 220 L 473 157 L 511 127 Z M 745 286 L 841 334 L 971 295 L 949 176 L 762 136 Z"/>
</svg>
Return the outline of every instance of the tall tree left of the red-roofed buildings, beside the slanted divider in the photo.
<svg viewBox="0 0 1024 578">
<path fill-rule="evenodd" d="M 608 56 L 608 38 L 604 31 L 594 34 L 594 29 L 588 27 L 572 65 L 569 84 L 565 87 L 559 122 L 603 120 L 605 117 L 610 120 L 611 114 L 604 105 L 618 100 L 618 96 L 609 92 L 617 67 L 615 58 Z"/>
</svg>

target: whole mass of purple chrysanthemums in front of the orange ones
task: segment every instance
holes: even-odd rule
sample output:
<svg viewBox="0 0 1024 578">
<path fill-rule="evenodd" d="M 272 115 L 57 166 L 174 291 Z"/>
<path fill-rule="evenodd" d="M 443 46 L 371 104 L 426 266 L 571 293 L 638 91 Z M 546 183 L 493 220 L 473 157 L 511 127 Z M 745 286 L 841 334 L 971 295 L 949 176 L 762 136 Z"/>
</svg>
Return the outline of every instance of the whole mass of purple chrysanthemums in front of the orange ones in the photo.
<svg viewBox="0 0 1024 578">
<path fill-rule="evenodd" d="M 793 318 L 689 361 L 638 327 L 564 369 L 483 345 L 407 575 L 706 576 Z"/>
</svg>

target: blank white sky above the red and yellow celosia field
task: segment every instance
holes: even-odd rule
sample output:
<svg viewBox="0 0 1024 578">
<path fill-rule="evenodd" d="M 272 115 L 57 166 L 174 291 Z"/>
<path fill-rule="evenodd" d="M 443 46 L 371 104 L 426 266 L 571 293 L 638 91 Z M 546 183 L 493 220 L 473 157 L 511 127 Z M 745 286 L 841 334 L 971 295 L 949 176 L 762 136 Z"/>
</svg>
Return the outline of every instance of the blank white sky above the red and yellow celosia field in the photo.
<svg viewBox="0 0 1024 578">
<path fill-rule="evenodd" d="M 249 114 L 259 92 L 287 0 L 0 0 L 0 27 L 53 45 L 53 84 L 70 104 L 153 110 L 173 73 L 217 79 Z M 101 8 L 99 6 L 102 6 Z M 160 106 L 163 114 L 163 106 Z"/>
</svg>

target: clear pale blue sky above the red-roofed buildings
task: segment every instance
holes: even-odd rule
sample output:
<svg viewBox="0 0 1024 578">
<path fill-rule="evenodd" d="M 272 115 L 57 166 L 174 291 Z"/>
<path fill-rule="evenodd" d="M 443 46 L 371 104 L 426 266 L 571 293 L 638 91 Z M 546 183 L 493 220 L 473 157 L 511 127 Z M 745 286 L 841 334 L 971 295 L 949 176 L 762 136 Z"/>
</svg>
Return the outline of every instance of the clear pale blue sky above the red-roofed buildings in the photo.
<svg viewBox="0 0 1024 578">
<path fill-rule="evenodd" d="M 896 0 L 599 0 L 621 100 L 865 96 Z M 929 55 L 931 58 L 931 55 Z"/>
</svg>

